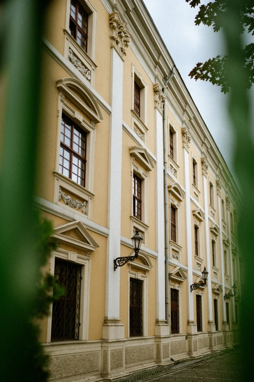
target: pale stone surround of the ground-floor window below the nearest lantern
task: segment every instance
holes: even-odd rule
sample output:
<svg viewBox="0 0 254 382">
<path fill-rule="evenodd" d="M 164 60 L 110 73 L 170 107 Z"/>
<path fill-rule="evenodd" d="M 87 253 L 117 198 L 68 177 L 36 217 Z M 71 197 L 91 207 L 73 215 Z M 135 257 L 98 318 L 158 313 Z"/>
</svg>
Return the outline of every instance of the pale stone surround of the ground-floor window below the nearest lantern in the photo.
<svg viewBox="0 0 254 382">
<path fill-rule="evenodd" d="M 133 252 L 134 255 L 134 252 Z M 145 270 L 145 274 L 137 272 L 132 269 L 132 267 L 140 268 Z M 129 335 L 129 287 L 130 279 L 141 280 L 142 282 L 142 320 L 143 320 L 143 336 L 134 337 Z M 129 264 L 128 270 L 128 338 L 144 338 L 148 336 L 148 270 L 147 267 L 144 267 L 141 263 L 135 262 L 132 266 Z"/>
</svg>

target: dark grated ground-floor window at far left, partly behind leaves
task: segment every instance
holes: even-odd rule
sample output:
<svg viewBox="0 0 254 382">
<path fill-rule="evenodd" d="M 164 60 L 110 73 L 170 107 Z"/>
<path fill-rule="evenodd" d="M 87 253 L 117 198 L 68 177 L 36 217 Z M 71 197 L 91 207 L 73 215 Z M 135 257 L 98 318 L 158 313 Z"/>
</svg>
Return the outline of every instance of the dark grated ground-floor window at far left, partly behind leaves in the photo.
<svg viewBox="0 0 254 382">
<path fill-rule="evenodd" d="M 53 302 L 51 341 L 78 340 L 81 265 L 55 258 L 54 277 L 64 295 Z"/>
</svg>

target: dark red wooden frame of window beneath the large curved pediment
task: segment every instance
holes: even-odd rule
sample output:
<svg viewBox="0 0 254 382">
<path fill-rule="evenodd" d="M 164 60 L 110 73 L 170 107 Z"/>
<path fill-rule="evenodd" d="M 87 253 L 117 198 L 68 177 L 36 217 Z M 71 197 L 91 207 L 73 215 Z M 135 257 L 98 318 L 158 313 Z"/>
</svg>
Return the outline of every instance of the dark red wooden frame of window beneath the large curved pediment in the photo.
<svg viewBox="0 0 254 382">
<path fill-rule="evenodd" d="M 87 160 L 86 160 L 86 152 L 87 152 L 87 133 L 81 128 L 79 127 L 76 123 L 74 123 L 69 117 L 66 116 L 66 114 L 62 113 L 62 121 L 63 119 L 66 121 L 68 120 L 70 122 L 70 125 L 71 125 L 71 146 L 68 146 L 66 143 L 64 143 L 63 141 L 60 140 L 60 147 L 63 147 L 63 149 L 65 149 L 66 151 L 68 151 L 70 153 L 70 170 L 69 170 L 69 179 L 71 179 L 72 181 L 74 181 L 72 179 L 72 174 L 73 174 L 73 155 L 75 157 L 77 157 L 80 161 L 82 161 L 82 163 L 84 163 L 84 177 L 83 177 L 83 185 L 82 184 L 79 184 L 78 182 L 74 181 L 75 183 L 81 185 L 82 187 L 85 188 L 86 186 L 86 163 L 87 163 Z M 62 123 L 62 122 L 61 122 Z M 81 134 L 84 135 L 84 141 L 85 141 L 85 147 L 84 147 L 84 152 L 85 152 L 85 156 L 82 157 L 79 153 L 77 153 L 75 150 L 73 150 L 73 136 L 74 136 L 74 128 L 79 131 Z M 61 156 L 60 156 L 61 157 Z M 60 157 L 59 157 L 59 166 L 60 166 Z M 60 172 L 60 169 L 59 169 L 59 172 Z M 61 173 L 61 172 L 60 172 Z M 63 174 L 63 173 L 61 173 Z M 64 175 L 64 174 L 63 174 Z"/>
</svg>

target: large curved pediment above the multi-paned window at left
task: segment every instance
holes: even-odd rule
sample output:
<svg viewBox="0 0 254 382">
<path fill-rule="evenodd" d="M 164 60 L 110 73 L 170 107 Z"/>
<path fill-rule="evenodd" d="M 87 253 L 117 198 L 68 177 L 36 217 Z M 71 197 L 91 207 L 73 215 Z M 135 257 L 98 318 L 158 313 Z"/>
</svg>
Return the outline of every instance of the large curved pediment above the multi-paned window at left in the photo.
<svg viewBox="0 0 254 382">
<path fill-rule="evenodd" d="M 76 80 L 72 77 L 66 77 L 64 79 L 57 80 L 56 86 L 92 121 L 98 123 L 103 119 L 100 108 L 93 94 L 80 80 Z"/>
</svg>

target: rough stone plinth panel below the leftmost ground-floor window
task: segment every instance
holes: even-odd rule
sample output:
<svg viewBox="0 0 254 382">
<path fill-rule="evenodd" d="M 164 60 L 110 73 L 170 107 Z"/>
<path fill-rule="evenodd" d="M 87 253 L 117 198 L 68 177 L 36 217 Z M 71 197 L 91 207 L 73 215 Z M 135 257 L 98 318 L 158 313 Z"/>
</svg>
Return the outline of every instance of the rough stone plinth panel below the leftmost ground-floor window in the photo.
<svg viewBox="0 0 254 382">
<path fill-rule="evenodd" d="M 50 359 L 50 381 L 99 371 L 100 352 L 86 352 Z"/>
</svg>

